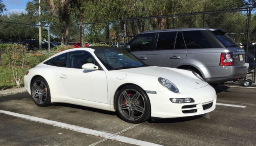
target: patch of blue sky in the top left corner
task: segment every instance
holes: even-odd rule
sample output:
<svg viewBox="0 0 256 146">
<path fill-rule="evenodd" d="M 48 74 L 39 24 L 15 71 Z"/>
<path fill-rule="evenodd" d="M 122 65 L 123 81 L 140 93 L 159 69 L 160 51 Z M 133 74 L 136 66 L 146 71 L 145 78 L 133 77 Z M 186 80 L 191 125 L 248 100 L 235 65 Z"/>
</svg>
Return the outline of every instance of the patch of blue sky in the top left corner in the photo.
<svg viewBox="0 0 256 146">
<path fill-rule="evenodd" d="M 3 0 L 3 3 L 5 4 L 8 12 L 20 13 L 26 12 L 25 8 L 28 1 L 32 0 Z"/>
</svg>

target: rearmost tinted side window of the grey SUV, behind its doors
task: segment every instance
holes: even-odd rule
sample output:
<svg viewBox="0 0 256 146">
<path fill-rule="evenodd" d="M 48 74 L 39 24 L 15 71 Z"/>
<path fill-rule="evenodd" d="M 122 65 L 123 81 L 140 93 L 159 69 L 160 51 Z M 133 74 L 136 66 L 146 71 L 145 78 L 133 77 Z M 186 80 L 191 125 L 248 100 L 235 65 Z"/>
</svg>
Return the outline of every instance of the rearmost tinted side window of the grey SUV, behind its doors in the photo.
<svg viewBox="0 0 256 146">
<path fill-rule="evenodd" d="M 187 49 L 212 47 L 201 31 L 184 31 L 183 35 Z"/>
</svg>

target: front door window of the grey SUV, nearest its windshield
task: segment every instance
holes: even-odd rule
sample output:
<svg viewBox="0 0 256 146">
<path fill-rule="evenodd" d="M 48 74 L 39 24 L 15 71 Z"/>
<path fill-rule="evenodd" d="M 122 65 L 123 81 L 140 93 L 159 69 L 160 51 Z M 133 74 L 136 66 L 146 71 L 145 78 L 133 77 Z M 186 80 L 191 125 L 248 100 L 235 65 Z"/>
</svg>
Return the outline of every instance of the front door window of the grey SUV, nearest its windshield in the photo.
<svg viewBox="0 0 256 146">
<path fill-rule="evenodd" d="M 154 42 L 156 33 L 139 34 L 131 43 L 131 51 L 148 51 Z"/>
</svg>

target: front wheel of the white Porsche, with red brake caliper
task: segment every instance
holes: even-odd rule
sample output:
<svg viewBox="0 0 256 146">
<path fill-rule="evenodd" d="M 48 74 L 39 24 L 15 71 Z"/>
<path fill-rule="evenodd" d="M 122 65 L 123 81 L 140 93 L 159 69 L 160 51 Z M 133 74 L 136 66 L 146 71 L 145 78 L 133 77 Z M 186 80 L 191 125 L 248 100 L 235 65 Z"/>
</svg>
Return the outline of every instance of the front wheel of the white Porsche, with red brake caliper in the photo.
<svg viewBox="0 0 256 146">
<path fill-rule="evenodd" d="M 116 110 L 122 120 L 141 123 L 150 117 L 150 101 L 141 88 L 127 85 L 118 92 L 116 98 Z"/>
</svg>

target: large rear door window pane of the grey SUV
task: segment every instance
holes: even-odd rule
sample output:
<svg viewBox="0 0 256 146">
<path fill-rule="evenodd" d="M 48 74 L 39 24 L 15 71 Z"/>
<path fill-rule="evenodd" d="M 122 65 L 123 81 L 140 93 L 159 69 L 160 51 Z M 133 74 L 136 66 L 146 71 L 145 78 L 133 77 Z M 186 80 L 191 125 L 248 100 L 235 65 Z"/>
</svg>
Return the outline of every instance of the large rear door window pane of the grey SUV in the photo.
<svg viewBox="0 0 256 146">
<path fill-rule="evenodd" d="M 157 50 L 174 49 L 177 32 L 160 32 L 156 45 Z"/>
</svg>

